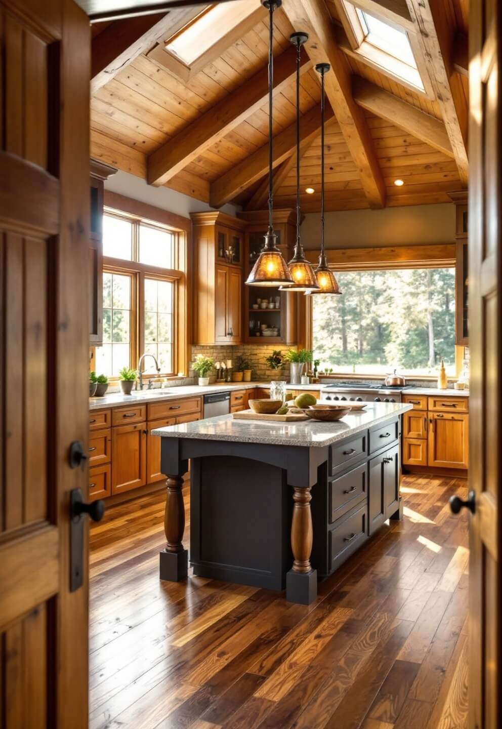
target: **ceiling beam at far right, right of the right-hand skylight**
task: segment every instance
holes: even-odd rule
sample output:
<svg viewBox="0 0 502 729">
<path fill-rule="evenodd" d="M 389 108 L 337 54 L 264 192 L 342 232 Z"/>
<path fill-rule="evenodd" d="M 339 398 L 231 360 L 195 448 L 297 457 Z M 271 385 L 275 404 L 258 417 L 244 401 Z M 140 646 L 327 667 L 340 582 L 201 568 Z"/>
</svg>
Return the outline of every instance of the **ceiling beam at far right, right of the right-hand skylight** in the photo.
<svg viewBox="0 0 502 729">
<path fill-rule="evenodd" d="M 455 16 L 450 0 L 407 0 L 423 44 L 423 57 L 436 89 L 444 126 L 458 167 L 462 187 L 468 186 L 468 103 L 462 79 L 455 73 L 453 39 Z"/>
</svg>

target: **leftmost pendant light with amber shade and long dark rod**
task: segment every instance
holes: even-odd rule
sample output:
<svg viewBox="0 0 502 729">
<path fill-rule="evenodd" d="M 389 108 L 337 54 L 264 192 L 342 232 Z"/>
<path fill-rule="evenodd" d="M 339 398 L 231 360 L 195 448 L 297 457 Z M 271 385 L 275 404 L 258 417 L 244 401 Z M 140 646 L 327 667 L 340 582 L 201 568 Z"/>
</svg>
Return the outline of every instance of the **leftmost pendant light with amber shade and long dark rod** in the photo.
<svg viewBox="0 0 502 729">
<path fill-rule="evenodd" d="M 269 11 L 269 49 L 268 49 L 268 231 L 264 236 L 265 244 L 259 254 L 246 284 L 248 286 L 291 286 L 293 279 L 281 251 L 275 245 L 276 235 L 272 223 L 273 190 L 272 190 L 272 108 L 273 108 L 273 79 L 274 79 L 274 10 L 281 7 L 282 0 L 262 0 L 262 5 Z"/>
</svg>

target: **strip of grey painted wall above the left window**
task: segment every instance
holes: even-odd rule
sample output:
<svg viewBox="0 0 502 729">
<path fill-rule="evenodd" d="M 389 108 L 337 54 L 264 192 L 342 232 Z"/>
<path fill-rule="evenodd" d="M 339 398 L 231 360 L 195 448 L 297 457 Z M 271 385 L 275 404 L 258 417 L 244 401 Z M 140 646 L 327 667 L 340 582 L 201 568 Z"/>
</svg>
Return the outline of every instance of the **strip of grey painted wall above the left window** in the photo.
<svg viewBox="0 0 502 729">
<path fill-rule="evenodd" d="M 169 187 L 154 187 L 149 185 L 146 180 L 128 172 L 119 170 L 110 179 L 105 182 L 105 190 L 118 192 L 119 195 L 125 195 L 133 200 L 140 200 L 141 203 L 154 205 L 162 210 L 168 210 L 170 213 L 183 215 L 188 218 L 190 213 L 200 213 L 213 210 L 208 203 L 203 203 L 195 198 L 189 198 L 183 192 L 170 190 Z M 235 205 L 224 205 L 221 210 L 229 215 L 235 215 L 239 210 Z"/>
</svg>

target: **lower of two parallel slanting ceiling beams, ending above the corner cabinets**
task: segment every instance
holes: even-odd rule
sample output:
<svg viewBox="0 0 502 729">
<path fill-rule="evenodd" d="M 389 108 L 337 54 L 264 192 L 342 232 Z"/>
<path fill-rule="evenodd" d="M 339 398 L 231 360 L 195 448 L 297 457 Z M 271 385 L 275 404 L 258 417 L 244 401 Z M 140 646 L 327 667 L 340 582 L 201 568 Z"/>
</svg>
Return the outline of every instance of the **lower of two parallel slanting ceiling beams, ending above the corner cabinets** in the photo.
<svg viewBox="0 0 502 729">
<path fill-rule="evenodd" d="M 296 51 L 295 51 L 296 52 Z M 332 109 L 326 105 L 326 122 L 333 118 Z M 300 154 L 302 149 L 318 136 L 321 125 L 321 106 L 314 106 L 307 114 L 300 118 Z M 274 137 L 273 167 L 281 165 L 294 154 L 297 144 L 297 124 L 289 125 Z M 213 208 L 233 200 L 236 195 L 246 190 L 251 184 L 259 180 L 268 171 L 268 144 L 256 149 L 249 157 L 232 167 L 228 172 L 214 180 L 210 188 L 210 204 Z"/>
</svg>

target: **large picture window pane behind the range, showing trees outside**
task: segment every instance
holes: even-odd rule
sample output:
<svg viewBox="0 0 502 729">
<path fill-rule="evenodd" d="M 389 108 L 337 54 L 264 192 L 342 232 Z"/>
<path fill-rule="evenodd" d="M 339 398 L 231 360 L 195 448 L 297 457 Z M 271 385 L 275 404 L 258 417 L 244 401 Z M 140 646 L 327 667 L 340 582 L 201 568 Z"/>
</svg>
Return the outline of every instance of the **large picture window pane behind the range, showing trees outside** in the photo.
<svg viewBox="0 0 502 729">
<path fill-rule="evenodd" d="M 313 296 L 313 351 L 334 373 L 455 375 L 455 269 L 337 273 L 342 296 Z"/>
</svg>

